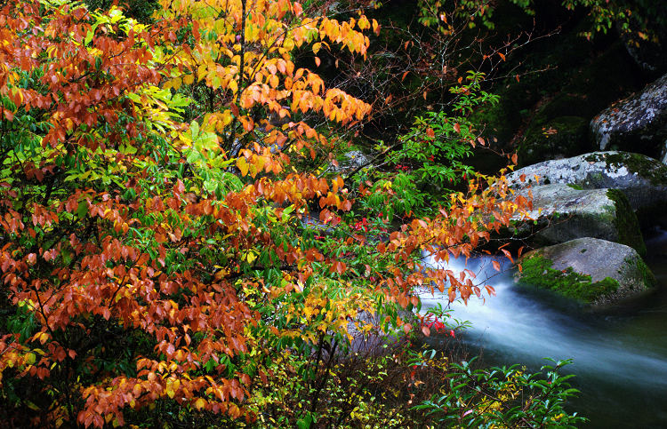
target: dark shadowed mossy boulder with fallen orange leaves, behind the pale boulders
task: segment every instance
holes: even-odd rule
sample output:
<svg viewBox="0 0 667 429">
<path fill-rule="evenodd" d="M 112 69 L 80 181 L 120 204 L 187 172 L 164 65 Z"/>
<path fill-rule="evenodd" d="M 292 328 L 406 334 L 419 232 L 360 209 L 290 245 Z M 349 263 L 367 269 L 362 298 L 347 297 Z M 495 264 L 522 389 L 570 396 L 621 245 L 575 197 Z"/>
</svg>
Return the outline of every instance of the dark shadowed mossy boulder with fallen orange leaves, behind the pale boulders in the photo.
<svg viewBox="0 0 667 429">
<path fill-rule="evenodd" d="M 559 116 L 550 121 L 534 121 L 518 146 L 521 165 L 544 159 L 558 159 L 592 150 L 588 120 L 580 116 Z"/>
</svg>

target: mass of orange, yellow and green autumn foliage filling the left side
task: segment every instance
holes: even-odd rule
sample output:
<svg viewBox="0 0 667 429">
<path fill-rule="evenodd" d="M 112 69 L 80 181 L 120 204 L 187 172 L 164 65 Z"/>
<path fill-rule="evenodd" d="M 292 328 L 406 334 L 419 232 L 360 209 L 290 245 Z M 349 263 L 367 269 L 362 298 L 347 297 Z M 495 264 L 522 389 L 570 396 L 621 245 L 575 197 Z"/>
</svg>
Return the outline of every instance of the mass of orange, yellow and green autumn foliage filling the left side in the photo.
<svg viewBox="0 0 667 429">
<path fill-rule="evenodd" d="M 421 252 L 469 255 L 526 202 L 502 179 L 469 178 L 432 218 L 354 231 L 372 187 L 301 166 L 371 106 L 293 58 L 338 44 L 363 60 L 378 27 L 303 7 L 163 1 L 141 24 L 116 7 L 4 2 L 5 409 L 86 427 L 155 406 L 252 422 L 285 351 L 319 383 L 325 345 L 411 330 L 397 309 L 418 306 L 415 288 L 481 294 L 422 269 Z M 309 213 L 334 232 L 314 232 Z M 316 238 L 335 231 L 338 245 Z M 362 312 L 382 317 L 371 326 Z"/>
</svg>

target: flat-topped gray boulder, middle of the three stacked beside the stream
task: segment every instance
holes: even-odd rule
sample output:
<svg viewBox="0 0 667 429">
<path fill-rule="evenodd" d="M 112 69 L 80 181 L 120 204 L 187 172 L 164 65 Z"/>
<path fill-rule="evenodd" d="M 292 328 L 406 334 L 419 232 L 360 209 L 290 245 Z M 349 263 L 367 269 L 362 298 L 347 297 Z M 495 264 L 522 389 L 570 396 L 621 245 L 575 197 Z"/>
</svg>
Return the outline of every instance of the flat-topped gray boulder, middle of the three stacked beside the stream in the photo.
<svg viewBox="0 0 667 429">
<path fill-rule="evenodd" d="M 575 189 L 552 184 L 525 188 L 519 194 L 526 198 L 533 195 L 534 210 L 529 214 L 535 220 L 532 233 L 537 244 L 595 237 L 646 253 L 637 217 L 625 195 L 616 189 Z M 523 234 L 528 233 L 528 226 L 523 226 Z"/>
</svg>

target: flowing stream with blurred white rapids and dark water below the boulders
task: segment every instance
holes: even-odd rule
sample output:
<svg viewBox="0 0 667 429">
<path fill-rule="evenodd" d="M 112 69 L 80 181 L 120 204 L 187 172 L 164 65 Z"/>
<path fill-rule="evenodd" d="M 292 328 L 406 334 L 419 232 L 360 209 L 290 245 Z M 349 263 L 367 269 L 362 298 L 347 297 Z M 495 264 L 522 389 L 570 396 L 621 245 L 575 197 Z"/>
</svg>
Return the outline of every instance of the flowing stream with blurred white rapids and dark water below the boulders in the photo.
<svg viewBox="0 0 667 429">
<path fill-rule="evenodd" d="M 515 285 L 506 259 L 495 258 L 506 268 L 502 274 L 491 257 L 470 258 L 467 265 L 453 259 L 450 269 L 488 278 L 497 294 L 453 304 L 454 318 L 472 324 L 463 341 L 487 365 L 522 363 L 536 371 L 548 363 L 545 357 L 572 359 L 563 372 L 576 375 L 570 381 L 582 393 L 570 408 L 591 419 L 586 427 L 667 427 L 667 232 L 656 230 L 647 248 L 657 290 L 596 313 Z M 422 302 L 425 309 L 447 299 L 428 293 Z"/>
</svg>

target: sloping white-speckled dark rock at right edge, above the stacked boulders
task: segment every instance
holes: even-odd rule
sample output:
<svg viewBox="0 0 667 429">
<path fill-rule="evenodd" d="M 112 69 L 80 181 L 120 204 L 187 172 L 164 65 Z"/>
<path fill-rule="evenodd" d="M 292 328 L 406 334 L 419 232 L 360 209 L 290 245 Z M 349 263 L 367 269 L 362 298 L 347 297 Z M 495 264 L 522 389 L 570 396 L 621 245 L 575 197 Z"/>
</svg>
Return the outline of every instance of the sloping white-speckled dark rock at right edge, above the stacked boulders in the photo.
<svg viewBox="0 0 667 429">
<path fill-rule="evenodd" d="M 600 150 L 631 150 L 655 158 L 667 139 L 667 75 L 591 121 Z"/>
</svg>

